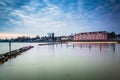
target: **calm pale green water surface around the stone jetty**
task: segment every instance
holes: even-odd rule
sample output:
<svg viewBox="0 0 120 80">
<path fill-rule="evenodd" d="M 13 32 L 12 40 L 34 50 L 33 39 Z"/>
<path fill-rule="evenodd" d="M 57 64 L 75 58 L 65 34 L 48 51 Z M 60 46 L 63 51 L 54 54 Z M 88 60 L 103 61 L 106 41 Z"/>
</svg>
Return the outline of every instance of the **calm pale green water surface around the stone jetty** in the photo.
<svg viewBox="0 0 120 80">
<path fill-rule="evenodd" d="M 12 50 L 28 45 L 34 48 L 0 65 L 0 80 L 102 80 L 120 74 L 120 44 L 12 43 Z M 0 53 L 7 51 L 8 43 L 0 43 Z"/>
</svg>

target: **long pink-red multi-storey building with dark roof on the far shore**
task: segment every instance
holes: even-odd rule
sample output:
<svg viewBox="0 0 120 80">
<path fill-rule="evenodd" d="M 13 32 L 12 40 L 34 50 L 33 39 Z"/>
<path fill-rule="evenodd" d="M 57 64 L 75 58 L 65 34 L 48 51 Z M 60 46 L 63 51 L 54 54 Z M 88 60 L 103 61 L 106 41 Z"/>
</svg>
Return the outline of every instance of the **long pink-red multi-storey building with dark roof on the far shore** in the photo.
<svg viewBox="0 0 120 80">
<path fill-rule="evenodd" d="M 73 40 L 108 40 L 108 32 L 98 31 L 79 33 L 74 35 Z"/>
</svg>

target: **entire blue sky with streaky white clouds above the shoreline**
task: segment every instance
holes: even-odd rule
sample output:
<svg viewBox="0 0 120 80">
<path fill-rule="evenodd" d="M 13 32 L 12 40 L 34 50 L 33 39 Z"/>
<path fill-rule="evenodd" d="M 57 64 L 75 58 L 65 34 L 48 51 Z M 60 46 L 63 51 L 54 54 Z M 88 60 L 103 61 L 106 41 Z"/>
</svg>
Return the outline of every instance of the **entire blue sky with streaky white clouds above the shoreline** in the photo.
<svg viewBox="0 0 120 80">
<path fill-rule="evenodd" d="M 0 0 L 0 34 L 120 32 L 120 0 Z"/>
</svg>

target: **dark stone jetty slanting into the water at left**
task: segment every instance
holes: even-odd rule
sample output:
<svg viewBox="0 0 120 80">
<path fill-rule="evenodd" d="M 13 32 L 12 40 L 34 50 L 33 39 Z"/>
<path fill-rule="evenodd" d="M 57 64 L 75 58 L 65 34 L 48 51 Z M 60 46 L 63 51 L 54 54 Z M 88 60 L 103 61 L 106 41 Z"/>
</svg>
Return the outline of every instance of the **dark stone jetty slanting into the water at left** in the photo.
<svg viewBox="0 0 120 80">
<path fill-rule="evenodd" d="M 22 47 L 20 49 L 13 50 L 11 52 L 7 52 L 5 54 L 0 54 L 0 64 L 6 62 L 8 59 L 11 59 L 13 57 L 16 57 L 17 55 L 20 55 L 21 53 L 33 48 L 33 46 L 26 46 Z"/>
</svg>

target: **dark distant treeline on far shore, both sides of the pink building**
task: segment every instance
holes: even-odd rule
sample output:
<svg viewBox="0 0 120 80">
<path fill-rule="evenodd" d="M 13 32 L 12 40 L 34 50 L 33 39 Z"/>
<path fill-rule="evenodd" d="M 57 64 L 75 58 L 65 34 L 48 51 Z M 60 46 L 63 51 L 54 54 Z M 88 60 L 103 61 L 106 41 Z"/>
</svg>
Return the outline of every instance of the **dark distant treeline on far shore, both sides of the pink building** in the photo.
<svg viewBox="0 0 120 80">
<path fill-rule="evenodd" d="M 59 37 L 40 37 L 37 35 L 36 37 L 28 37 L 28 36 L 22 36 L 17 38 L 11 38 L 11 39 L 0 39 L 0 42 L 52 42 L 52 41 L 72 41 L 74 38 L 74 35 L 70 36 L 59 36 Z M 120 35 L 116 35 L 115 32 L 108 33 L 108 40 L 117 40 L 120 39 Z"/>
</svg>

